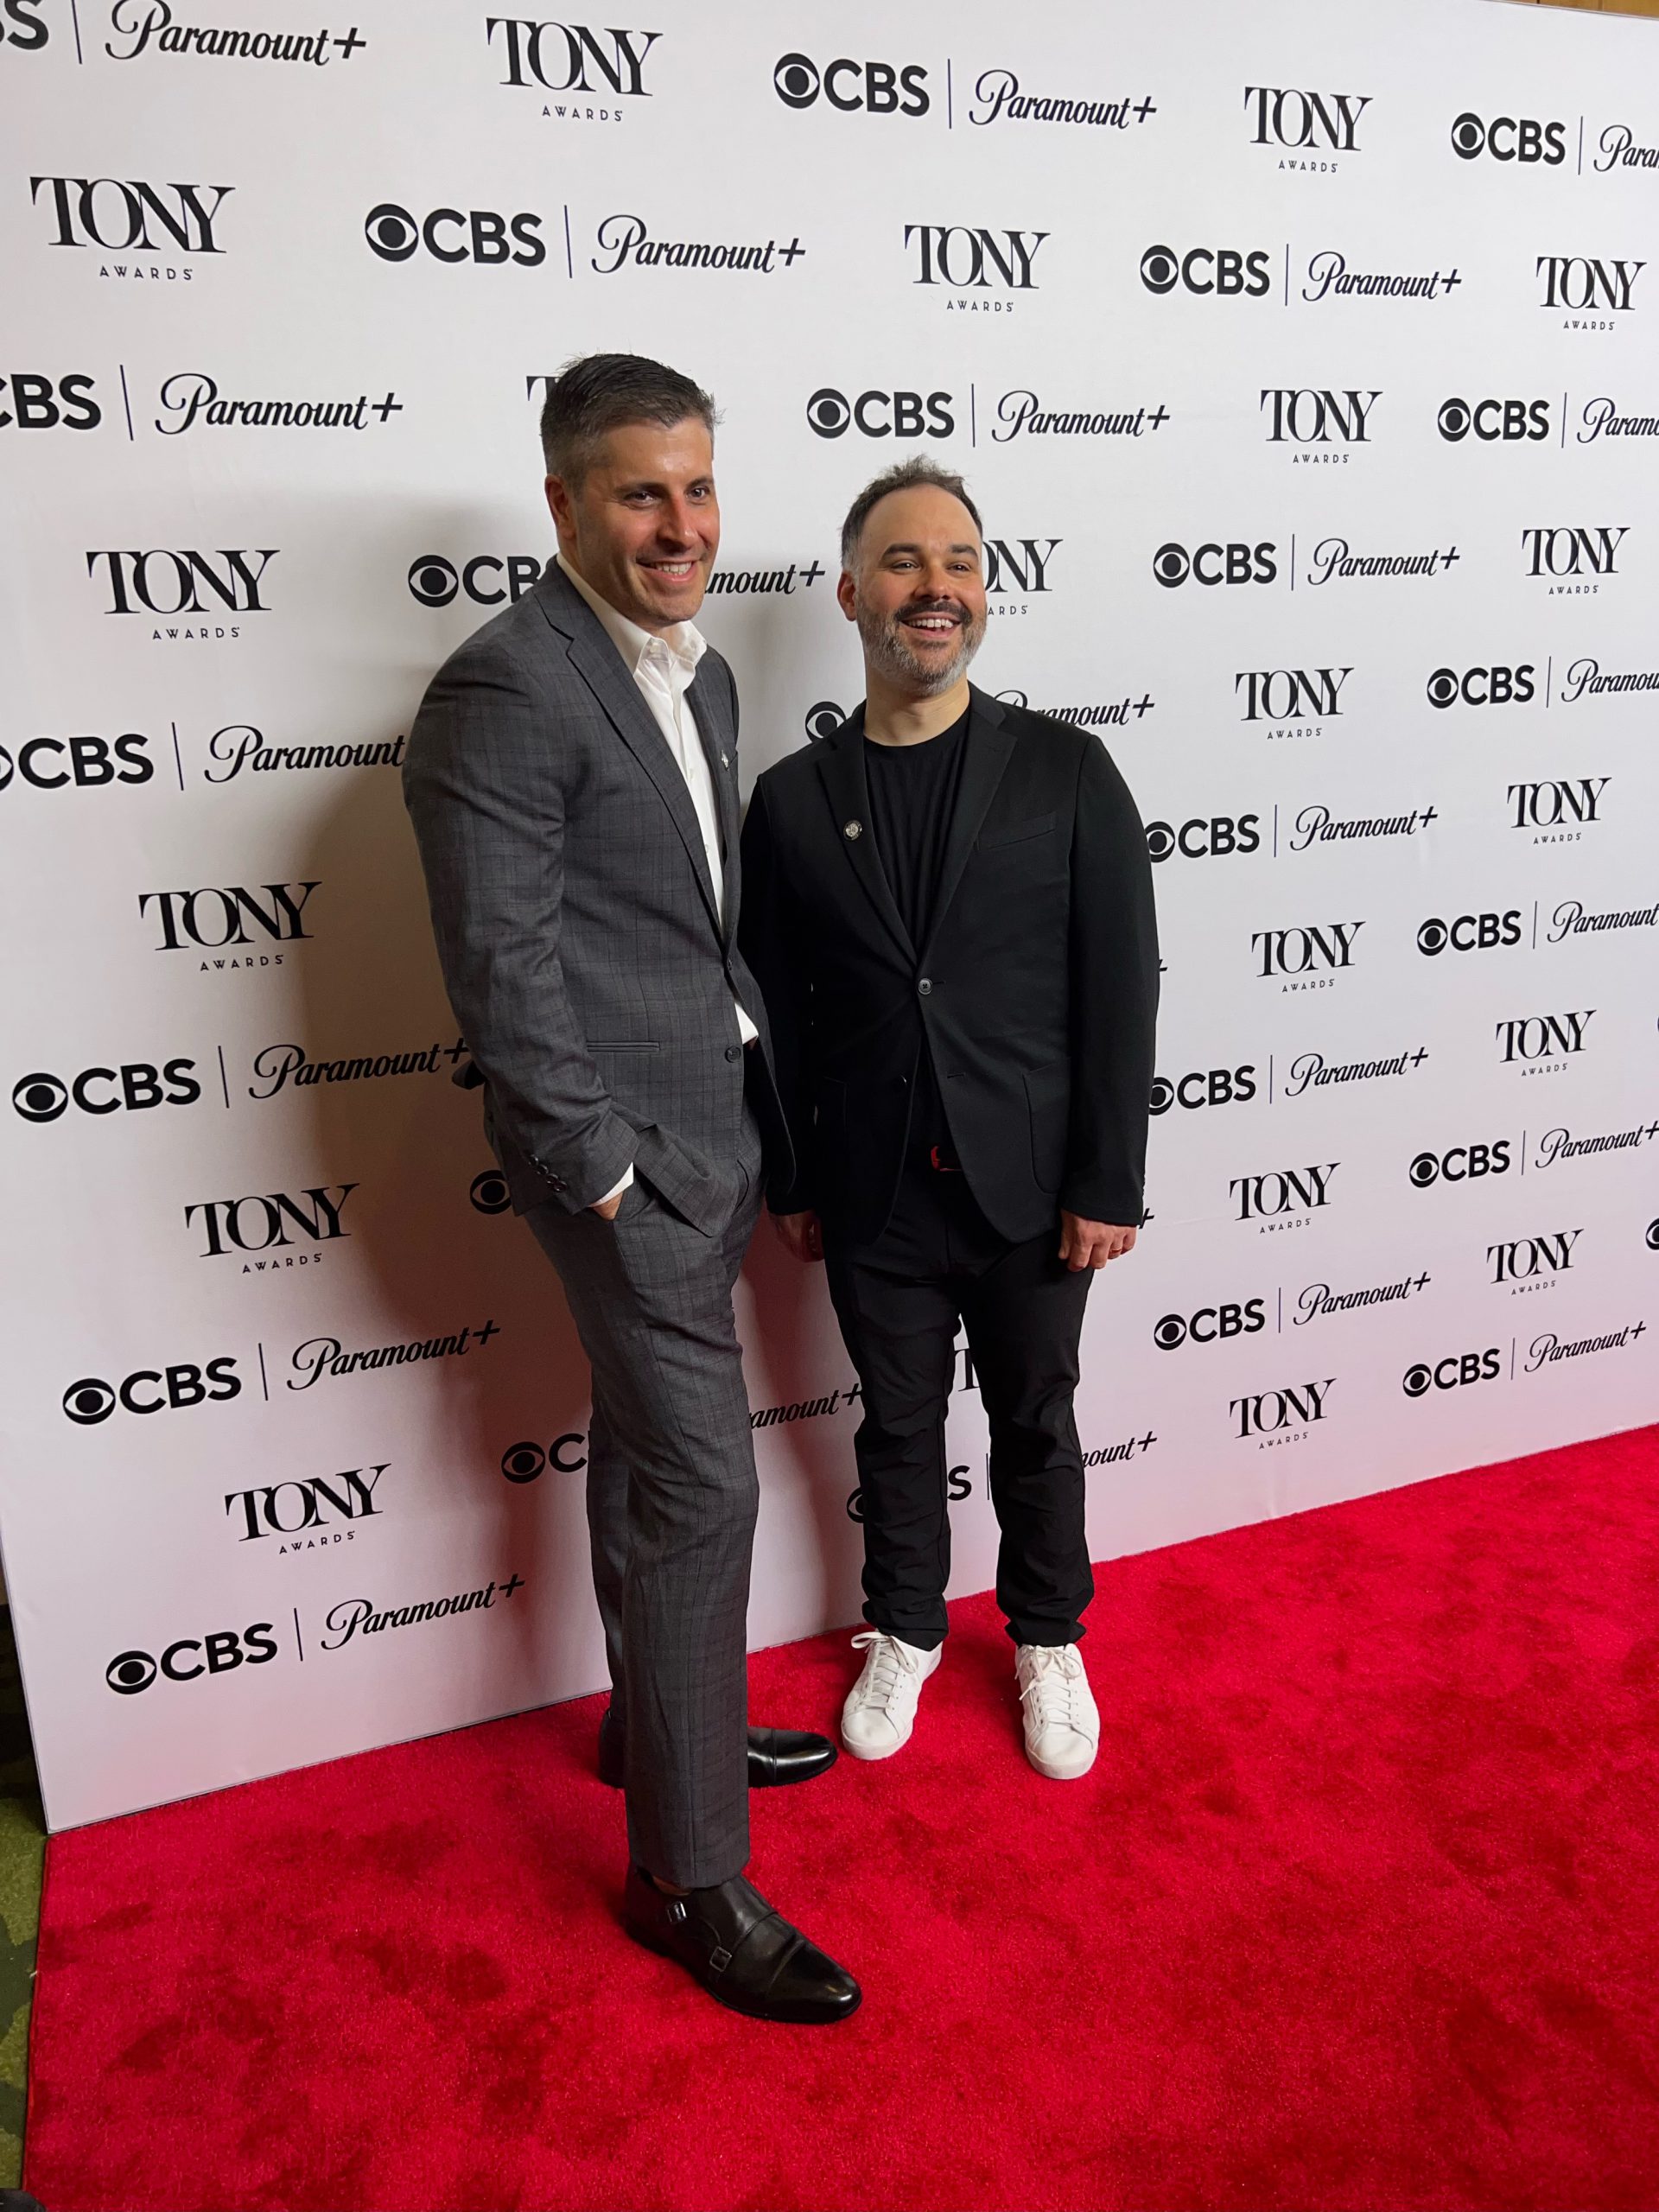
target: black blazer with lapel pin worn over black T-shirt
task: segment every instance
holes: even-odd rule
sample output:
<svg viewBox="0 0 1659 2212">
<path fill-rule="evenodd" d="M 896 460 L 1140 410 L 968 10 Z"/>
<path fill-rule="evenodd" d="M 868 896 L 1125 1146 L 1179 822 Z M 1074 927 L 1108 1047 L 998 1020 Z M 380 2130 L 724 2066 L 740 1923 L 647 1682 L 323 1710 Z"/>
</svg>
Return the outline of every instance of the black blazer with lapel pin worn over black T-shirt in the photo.
<svg viewBox="0 0 1659 2212">
<path fill-rule="evenodd" d="M 922 1035 L 973 1197 L 1009 1239 L 1139 1223 L 1157 1013 L 1146 832 L 1110 754 L 973 690 L 927 945 L 869 834 L 865 710 L 754 785 L 739 942 L 772 1020 L 796 1172 L 863 1243 L 905 1161 Z"/>
</svg>

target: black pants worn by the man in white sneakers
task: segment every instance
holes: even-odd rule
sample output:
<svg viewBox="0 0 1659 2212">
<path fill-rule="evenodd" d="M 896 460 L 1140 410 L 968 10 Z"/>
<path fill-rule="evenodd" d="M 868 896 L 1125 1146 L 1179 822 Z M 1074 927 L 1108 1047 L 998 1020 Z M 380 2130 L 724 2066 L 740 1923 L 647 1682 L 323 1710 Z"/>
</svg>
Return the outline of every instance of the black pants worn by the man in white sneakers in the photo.
<svg viewBox="0 0 1659 2212">
<path fill-rule="evenodd" d="M 825 1221 L 830 1296 L 865 1418 L 854 1451 L 865 1515 L 865 1619 L 920 1650 L 945 1641 L 951 1517 L 945 1402 L 958 1321 L 991 1422 L 998 1604 L 1015 1644 L 1075 1644 L 1095 1595 L 1084 1462 L 1071 1400 L 1093 1270 L 1062 1265 L 1060 1221 L 1009 1243 L 964 1175 L 907 1166 L 869 1245 Z"/>
</svg>

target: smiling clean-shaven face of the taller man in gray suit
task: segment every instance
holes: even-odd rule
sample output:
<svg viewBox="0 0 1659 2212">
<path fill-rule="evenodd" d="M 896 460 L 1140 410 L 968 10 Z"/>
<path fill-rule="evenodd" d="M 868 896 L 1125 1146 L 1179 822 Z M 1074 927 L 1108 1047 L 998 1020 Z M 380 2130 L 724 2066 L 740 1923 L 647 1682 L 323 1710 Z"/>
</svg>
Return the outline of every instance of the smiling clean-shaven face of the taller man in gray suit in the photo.
<svg viewBox="0 0 1659 2212">
<path fill-rule="evenodd" d="M 714 440 L 697 416 L 606 431 L 586 476 L 546 480 L 560 553 L 641 630 L 672 630 L 703 604 L 721 542 Z"/>
</svg>

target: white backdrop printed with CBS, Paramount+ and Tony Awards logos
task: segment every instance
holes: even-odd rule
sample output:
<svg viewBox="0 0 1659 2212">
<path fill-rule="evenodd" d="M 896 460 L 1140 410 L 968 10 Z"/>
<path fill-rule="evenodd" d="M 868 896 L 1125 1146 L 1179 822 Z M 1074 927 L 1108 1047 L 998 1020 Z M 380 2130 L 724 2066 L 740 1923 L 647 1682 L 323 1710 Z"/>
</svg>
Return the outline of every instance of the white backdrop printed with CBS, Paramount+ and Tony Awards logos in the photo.
<svg viewBox="0 0 1659 2212">
<path fill-rule="evenodd" d="M 398 794 L 551 553 L 571 354 L 723 409 L 745 772 L 858 697 L 931 451 L 980 681 L 1099 732 L 1166 945 L 1099 1557 L 1659 1413 L 1659 40 L 1486 4 L 2 0 L 0 1535 L 53 1825 L 602 1681 L 586 1374 Z M 1009 916 L 1018 929 L 1018 914 Z M 856 1617 L 763 1232 L 752 1639 Z M 962 1590 L 984 1425 L 951 1411 Z"/>
</svg>

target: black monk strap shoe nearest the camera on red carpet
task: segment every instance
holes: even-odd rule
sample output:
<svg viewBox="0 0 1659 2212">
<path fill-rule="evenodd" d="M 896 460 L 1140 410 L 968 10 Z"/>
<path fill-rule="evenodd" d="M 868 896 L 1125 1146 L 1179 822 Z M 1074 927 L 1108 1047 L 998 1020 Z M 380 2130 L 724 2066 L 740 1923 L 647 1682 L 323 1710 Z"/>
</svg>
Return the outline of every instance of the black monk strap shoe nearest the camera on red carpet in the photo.
<svg viewBox="0 0 1659 2212">
<path fill-rule="evenodd" d="M 863 1991 L 741 1874 L 684 1898 L 628 1867 L 622 1920 L 635 1942 L 679 1964 L 734 2013 L 794 2026 L 849 2020 Z"/>
</svg>

